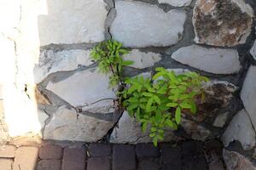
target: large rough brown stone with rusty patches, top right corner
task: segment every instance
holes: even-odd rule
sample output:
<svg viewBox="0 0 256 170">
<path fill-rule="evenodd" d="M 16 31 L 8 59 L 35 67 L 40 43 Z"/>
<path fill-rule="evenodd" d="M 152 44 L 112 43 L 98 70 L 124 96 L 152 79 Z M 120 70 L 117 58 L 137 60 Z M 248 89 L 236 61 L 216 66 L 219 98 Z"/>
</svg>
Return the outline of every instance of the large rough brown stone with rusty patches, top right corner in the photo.
<svg viewBox="0 0 256 170">
<path fill-rule="evenodd" d="M 195 42 L 215 46 L 245 43 L 251 33 L 253 8 L 243 0 L 197 0 L 193 14 Z"/>
</svg>

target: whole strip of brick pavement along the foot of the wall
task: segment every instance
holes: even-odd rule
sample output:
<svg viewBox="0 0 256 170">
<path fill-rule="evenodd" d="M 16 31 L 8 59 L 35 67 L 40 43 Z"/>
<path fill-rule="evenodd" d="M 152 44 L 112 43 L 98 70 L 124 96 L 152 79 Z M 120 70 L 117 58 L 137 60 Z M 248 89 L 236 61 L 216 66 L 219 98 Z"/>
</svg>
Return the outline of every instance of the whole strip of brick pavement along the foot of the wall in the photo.
<svg viewBox="0 0 256 170">
<path fill-rule="evenodd" d="M 52 143 L 18 148 L 7 144 L 0 148 L 0 170 L 207 170 L 211 162 L 205 146 L 195 141 L 157 148 L 152 144 Z M 211 145 L 207 153 L 214 149 Z"/>
</svg>

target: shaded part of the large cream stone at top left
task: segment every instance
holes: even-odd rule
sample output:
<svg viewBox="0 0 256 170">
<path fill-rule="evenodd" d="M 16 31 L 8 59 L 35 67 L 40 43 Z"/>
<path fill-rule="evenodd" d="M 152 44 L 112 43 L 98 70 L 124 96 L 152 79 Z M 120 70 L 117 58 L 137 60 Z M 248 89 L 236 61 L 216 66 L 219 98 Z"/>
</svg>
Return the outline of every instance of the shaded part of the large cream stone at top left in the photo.
<svg viewBox="0 0 256 170">
<path fill-rule="evenodd" d="M 47 14 L 38 16 L 41 46 L 50 43 L 101 42 L 108 11 L 103 0 L 47 2 Z"/>
</svg>

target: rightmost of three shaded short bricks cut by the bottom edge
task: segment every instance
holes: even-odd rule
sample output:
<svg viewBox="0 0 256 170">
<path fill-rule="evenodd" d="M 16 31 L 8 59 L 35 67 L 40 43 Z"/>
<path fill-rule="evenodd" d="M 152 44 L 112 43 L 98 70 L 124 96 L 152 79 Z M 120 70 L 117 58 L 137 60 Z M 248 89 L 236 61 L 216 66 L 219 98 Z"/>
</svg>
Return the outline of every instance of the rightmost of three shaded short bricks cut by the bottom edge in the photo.
<svg viewBox="0 0 256 170">
<path fill-rule="evenodd" d="M 138 160 L 137 170 L 160 170 L 159 158 L 144 157 Z"/>
</svg>

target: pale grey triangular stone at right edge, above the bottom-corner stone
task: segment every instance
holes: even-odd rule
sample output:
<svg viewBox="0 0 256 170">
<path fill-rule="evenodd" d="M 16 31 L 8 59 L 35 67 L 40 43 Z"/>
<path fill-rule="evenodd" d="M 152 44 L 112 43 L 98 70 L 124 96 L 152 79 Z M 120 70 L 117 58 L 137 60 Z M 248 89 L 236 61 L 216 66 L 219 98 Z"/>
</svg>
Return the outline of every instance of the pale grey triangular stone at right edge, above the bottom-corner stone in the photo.
<svg viewBox="0 0 256 170">
<path fill-rule="evenodd" d="M 239 111 L 234 116 L 222 136 L 225 147 L 234 140 L 239 141 L 244 150 L 251 150 L 255 146 L 255 132 L 250 117 L 245 110 Z"/>
</svg>

